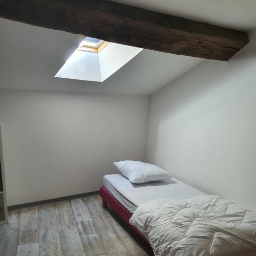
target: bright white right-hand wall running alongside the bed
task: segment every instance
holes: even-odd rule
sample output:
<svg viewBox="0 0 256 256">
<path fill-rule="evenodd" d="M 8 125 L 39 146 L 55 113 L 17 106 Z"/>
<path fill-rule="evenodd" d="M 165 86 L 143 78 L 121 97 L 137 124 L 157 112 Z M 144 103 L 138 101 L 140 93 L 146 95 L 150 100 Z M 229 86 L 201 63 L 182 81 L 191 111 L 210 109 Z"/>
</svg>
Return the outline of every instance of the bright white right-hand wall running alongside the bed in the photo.
<svg viewBox="0 0 256 256">
<path fill-rule="evenodd" d="M 256 210 L 256 31 L 228 62 L 204 61 L 151 98 L 147 160 Z"/>
</svg>

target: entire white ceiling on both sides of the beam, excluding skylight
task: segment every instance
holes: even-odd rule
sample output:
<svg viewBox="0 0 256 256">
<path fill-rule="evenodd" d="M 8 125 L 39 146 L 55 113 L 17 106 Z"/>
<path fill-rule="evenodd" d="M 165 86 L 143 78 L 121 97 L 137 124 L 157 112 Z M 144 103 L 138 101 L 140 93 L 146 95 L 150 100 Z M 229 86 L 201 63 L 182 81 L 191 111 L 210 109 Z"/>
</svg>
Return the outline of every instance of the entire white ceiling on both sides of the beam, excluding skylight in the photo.
<svg viewBox="0 0 256 256">
<path fill-rule="evenodd" d="M 223 27 L 256 28 L 255 0 L 115 0 Z M 84 36 L 0 18 L 0 88 L 151 95 L 202 59 L 143 50 L 104 82 L 55 78 Z"/>
</svg>

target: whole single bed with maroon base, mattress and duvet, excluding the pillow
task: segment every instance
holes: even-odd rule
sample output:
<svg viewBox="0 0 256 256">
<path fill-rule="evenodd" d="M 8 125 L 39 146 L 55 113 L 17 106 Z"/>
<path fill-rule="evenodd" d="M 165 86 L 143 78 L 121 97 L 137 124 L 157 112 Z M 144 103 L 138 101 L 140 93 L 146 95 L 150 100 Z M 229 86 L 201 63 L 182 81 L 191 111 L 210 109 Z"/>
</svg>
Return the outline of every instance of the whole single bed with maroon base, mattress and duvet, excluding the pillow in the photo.
<svg viewBox="0 0 256 256">
<path fill-rule="evenodd" d="M 157 256 L 256 255 L 254 212 L 176 178 L 133 184 L 106 175 L 100 196 Z"/>
</svg>

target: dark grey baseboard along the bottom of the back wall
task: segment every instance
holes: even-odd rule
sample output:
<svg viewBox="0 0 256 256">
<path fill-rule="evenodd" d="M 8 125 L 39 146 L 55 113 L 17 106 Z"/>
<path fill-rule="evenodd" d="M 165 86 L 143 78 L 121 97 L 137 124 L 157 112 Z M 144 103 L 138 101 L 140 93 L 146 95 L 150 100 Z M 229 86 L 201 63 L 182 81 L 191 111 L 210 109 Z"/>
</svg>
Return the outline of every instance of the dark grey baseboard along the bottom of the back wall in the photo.
<svg viewBox="0 0 256 256">
<path fill-rule="evenodd" d="M 8 210 L 24 208 L 24 207 L 40 205 L 40 204 L 49 204 L 49 203 L 54 203 L 54 202 L 58 202 L 58 201 L 65 201 L 65 200 L 70 200 L 70 199 L 75 199 L 75 198 L 80 198 L 80 197 L 88 197 L 88 196 L 93 196 L 93 195 L 98 195 L 98 194 L 99 194 L 99 191 L 92 191 L 92 192 L 73 195 L 73 196 L 59 197 L 59 198 L 53 198 L 53 199 L 36 201 L 36 202 L 25 203 L 25 204 L 16 204 L 16 205 L 8 206 Z"/>
</svg>

